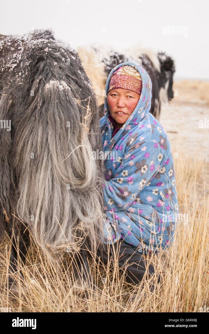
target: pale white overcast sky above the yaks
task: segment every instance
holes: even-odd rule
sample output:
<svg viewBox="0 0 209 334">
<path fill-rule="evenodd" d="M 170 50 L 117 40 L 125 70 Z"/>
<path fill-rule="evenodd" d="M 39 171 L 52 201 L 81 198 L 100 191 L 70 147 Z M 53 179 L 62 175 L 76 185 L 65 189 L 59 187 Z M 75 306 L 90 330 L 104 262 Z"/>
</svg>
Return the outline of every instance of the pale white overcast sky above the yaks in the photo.
<svg viewBox="0 0 209 334">
<path fill-rule="evenodd" d="M 207 0 L 0 0 L 0 10 L 1 34 L 52 28 L 73 48 L 148 46 L 174 58 L 174 79 L 209 80 Z M 163 33 L 172 26 L 184 27 L 183 34 Z"/>
</svg>

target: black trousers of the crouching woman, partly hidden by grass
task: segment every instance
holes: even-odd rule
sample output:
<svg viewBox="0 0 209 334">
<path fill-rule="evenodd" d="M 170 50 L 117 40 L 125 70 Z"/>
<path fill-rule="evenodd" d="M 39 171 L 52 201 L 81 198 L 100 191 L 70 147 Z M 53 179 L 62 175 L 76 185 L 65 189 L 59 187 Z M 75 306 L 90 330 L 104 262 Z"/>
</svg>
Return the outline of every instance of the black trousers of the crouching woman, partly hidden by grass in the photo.
<svg viewBox="0 0 209 334">
<path fill-rule="evenodd" d="M 108 247 L 110 247 L 108 257 Z M 115 255 L 114 255 L 115 249 Z M 123 239 L 120 239 L 113 245 L 105 245 L 105 251 L 97 251 L 97 261 L 102 261 L 107 265 L 108 260 L 113 262 L 114 256 L 118 258 L 119 271 L 123 273 L 125 271 L 125 279 L 127 283 L 136 285 L 141 282 L 144 273 L 146 272 L 147 262 L 143 255 L 137 252 L 131 245 L 127 244 Z M 154 275 L 154 267 L 150 264 L 147 270 L 147 277 Z M 158 278 L 158 283 L 161 282 L 161 277 Z M 150 287 L 153 290 L 153 285 Z"/>
</svg>

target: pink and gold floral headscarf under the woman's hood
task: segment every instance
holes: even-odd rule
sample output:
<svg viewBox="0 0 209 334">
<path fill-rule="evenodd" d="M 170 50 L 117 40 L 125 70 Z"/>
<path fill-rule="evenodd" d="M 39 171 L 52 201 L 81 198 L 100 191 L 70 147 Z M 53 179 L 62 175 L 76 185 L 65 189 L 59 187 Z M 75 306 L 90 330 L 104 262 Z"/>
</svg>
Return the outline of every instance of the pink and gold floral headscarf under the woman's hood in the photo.
<svg viewBox="0 0 209 334">
<path fill-rule="evenodd" d="M 119 67 L 111 75 L 109 91 L 117 88 L 127 89 L 141 95 L 142 79 L 137 69 L 130 65 Z"/>
</svg>

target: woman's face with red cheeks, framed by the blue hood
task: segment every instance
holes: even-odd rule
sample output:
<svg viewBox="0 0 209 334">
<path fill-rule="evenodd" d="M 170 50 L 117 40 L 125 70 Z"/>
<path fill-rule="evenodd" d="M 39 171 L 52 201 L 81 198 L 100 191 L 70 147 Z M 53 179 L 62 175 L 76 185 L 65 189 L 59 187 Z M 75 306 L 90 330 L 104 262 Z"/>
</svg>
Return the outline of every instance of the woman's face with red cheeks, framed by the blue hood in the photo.
<svg viewBox="0 0 209 334">
<path fill-rule="evenodd" d="M 123 88 L 112 89 L 107 95 L 107 104 L 110 115 L 121 128 L 133 113 L 139 101 L 140 95 Z"/>
</svg>

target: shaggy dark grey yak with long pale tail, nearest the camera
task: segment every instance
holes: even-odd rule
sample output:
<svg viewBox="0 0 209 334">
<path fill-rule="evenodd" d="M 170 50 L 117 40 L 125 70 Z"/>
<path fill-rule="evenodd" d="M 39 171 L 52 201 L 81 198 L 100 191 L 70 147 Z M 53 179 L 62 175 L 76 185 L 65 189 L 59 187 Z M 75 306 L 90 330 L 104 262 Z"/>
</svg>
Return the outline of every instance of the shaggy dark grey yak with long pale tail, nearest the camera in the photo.
<svg viewBox="0 0 209 334">
<path fill-rule="evenodd" d="M 24 260 L 30 232 L 47 254 L 78 238 L 95 250 L 103 207 L 103 164 L 92 159 L 101 149 L 98 105 L 78 54 L 50 29 L 0 42 L 0 122 L 0 234 L 13 243 L 10 269 L 17 236 Z"/>
</svg>

